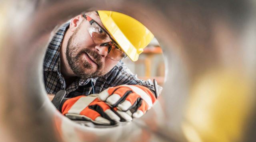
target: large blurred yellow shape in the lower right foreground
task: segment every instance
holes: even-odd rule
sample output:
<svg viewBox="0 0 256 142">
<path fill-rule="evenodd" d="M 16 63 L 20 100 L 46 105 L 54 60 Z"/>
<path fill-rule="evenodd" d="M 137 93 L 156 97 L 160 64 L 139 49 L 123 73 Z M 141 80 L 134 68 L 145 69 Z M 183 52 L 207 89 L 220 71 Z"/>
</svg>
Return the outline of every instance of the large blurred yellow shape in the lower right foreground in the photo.
<svg viewBox="0 0 256 142">
<path fill-rule="evenodd" d="M 232 71 L 204 74 L 194 84 L 182 130 L 190 142 L 239 142 L 252 108 L 250 80 Z"/>
</svg>

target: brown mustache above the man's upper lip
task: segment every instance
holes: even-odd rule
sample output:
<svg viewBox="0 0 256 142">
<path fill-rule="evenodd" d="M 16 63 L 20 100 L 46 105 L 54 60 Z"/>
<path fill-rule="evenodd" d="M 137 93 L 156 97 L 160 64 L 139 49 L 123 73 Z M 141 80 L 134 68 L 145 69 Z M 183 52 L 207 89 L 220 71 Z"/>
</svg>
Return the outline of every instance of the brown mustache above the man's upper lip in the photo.
<svg viewBox="0 0 256 142">
<path fill-rule="evenodd" d="M 94 61 L 96 62 L 96 64 L 98 64 L 98 67 L 99 67 L 98 69 L 102 68 L 103 63 L 101 62 L 102 56 L 100 54 L 98 54 L 94 50 L 90 50 L 88 48 L 84 48 L 84 49 L 80 50 L 80 52 L 77 54 L 76 58 L 81 56 L 81 54 L 83 54 L 83 53 L 86 53 L 86 54 L 92 56 L 92 58 L 94 58 Z"/>
</svg>

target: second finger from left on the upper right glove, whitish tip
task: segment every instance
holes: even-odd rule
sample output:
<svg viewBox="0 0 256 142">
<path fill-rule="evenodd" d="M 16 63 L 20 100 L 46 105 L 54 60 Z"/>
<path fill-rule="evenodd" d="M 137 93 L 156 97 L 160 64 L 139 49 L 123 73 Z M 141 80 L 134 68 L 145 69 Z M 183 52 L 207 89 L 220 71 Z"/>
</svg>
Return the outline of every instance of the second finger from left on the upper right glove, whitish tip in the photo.
<svg viewBox="0 0 256 142">
<path fill-rule="evenodd" d="M 118 104 L 124 102 L 130 93 L 132 93 L 132 91 L 129 90 L 129 88 L 118 88 L 107 98 L 106 102 L 112 107 L 116 107 Z"/>
</svg>

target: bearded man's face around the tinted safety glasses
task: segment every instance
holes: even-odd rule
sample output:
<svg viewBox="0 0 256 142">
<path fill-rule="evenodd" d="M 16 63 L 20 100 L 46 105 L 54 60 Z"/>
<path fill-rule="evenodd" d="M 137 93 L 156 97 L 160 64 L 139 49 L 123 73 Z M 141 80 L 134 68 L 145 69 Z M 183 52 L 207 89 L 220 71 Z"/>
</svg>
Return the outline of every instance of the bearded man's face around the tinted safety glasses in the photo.
<svg viewBox="0 0 256 142">
<path fill-rule="evenodd" d="M 103 27 L 99 16 L 90 14 Z M 74 74 L 81 78 L 95 78 L 108 73 L 118 61 L 106 58 L 108 47 L 96 45 L 88 33 L 90 23 L 84 20 L 70 36 L 66 48 L 66 58 Z M 111 41 L 109 39 L 109 41 Z"/>
</svg>

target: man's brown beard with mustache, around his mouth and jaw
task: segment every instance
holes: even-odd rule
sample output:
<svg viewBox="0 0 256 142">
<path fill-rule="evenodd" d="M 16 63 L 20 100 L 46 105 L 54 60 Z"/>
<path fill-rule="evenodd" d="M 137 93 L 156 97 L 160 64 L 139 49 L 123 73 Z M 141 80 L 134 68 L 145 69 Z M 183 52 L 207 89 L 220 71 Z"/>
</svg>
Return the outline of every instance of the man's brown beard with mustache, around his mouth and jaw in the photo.
<svg viewBox="0 0 256 142">
<path fill-rule="evenodd" d="M 83 79 L 103 76 L 105 73 L 102 71 L 103 64 L 101 62 L 102 57 L 100 56 L 100 54 L 89 48 L 84 48 L 78 51 L 78 49 L 80 49 L 79 46 L 77 44 L 74 44 L 74 38 L 76 37 L 78 30 L 79 27 L 68 39 L 68 44 L 66 48 L 66 59 L 68 61 L 68 65 L 70 66 L 74 74 Z M 92 58 L 94 58 L 94 61 L 97 64 L 96 71 L 92 70 L 93 66 L 87 60 L 82 59 L 83 54 L 87 54 L 87 56 L 90 55 Z"/>
</svg>

